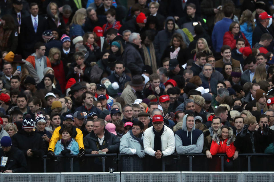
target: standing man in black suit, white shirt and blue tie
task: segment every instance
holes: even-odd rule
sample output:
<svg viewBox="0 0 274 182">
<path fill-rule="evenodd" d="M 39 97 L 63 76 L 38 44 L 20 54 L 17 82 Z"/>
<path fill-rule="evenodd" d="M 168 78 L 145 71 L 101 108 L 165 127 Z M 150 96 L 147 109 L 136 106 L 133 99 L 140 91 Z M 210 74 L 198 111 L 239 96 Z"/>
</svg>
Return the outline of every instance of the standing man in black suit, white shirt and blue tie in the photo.
<svg viewBox="0 0 274 182">
<path fill-rule="evenodd" d="M 47 30 L 46 19 L 38 15 L 37 3 L 31 3 L 29 7 L 31 16 L 22 19 L 20 31 L 24 59 L 35 52 L 34 45 L 37 42 L 44 42 L 42 34 Z"/>
</svg>

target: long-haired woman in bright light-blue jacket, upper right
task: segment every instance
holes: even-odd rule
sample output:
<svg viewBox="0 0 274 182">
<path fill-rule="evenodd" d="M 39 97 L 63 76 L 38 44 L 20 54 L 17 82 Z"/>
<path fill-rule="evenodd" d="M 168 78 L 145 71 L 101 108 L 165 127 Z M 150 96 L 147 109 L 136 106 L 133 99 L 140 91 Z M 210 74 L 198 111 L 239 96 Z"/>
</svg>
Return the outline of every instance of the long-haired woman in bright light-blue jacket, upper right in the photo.
<svg viewBox="0 0 274 182">
<path fill-rule="evenodd" d="M 252 34 L 256 24 L 252 12 L 249 9 L 243 11 L 239 25 L 249 44 L 252 46 Z"/>
</svg>

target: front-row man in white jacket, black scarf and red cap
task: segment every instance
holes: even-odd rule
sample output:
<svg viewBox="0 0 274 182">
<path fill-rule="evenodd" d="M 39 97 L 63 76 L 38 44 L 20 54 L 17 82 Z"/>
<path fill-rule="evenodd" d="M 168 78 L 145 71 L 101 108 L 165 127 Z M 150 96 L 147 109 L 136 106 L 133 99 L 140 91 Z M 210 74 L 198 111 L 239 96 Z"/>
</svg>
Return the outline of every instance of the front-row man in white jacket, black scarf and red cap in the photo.
<svg viewBox="0 0 274 182">
<path fill-rule="evenodd" d="M 175 150 L 174 133 L 164 126 L 162 115 L 154 115 L 152 125 L 144 132 L 145 153 L 157 159 L 173 154 Z"/>
</svg>

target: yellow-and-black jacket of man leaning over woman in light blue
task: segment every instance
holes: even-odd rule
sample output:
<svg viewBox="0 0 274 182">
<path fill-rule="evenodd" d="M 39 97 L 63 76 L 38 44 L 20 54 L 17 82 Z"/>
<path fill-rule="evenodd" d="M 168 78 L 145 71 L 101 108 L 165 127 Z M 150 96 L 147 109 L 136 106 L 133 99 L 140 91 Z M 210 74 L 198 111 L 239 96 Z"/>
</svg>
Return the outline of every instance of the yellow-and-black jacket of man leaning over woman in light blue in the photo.
<svg viewBox="0 0 274 182">
<path fill-rule="evenodd" d="M 62 126 L 63 128 L 64 126 Z M 55 149 L 55 144 L 57 143 L 58 140 L 62 139 L 62 133 L 60 133 L 61 126 L 57 127 L 51 137 L 51 140 L 49 141 L 49 149 L 54 152 Z M 79 145 L 79 150 L 80 149 L 85 149 L 84 148 L 84 143 L 83 143 L 83 134 L 82 131 L 75 126 L 72 126 L 72 138 L 76 140 L 76 142 Z"/>
</svg>

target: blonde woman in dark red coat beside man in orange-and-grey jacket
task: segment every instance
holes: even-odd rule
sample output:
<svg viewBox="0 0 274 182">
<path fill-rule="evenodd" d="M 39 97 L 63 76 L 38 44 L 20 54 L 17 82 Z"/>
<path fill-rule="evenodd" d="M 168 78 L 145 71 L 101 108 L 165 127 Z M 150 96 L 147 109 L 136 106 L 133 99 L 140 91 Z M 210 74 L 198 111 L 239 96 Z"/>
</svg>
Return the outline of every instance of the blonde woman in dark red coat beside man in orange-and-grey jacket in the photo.
<svg viewBox="0 0 274 182">
<path fill-rule="evenodd" d="M 53 47 L 49 50 L 49 61 L 51 61 L 51 67 L 54 70 L 54 77 L 59 81 L 62 93 L 65 93 L 65 87 L 67 82 L 65 79 L 63 61 L 60 60 L 60 58 L 61 51 L 58 48 Z"/>
</svg>

